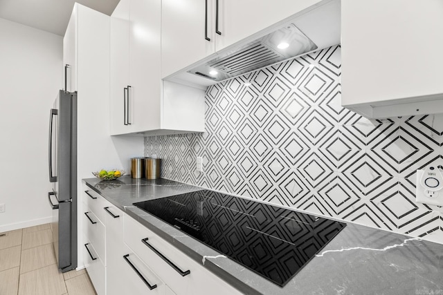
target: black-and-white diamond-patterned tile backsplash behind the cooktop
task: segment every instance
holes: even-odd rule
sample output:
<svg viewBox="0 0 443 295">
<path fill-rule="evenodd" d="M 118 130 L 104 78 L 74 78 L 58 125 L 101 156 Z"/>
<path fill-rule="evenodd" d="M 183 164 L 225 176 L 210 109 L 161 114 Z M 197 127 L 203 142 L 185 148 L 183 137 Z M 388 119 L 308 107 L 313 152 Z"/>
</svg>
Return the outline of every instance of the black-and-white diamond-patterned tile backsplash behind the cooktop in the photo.
<svg viewBox="0 0 443 295">
<path fill-rule="evenodd" d="M 368 120 L 340 79 L 332 46 L 215 84 L 206 132 L 145 137 L 145 156 L 163 178 L 443 243 L 443 208 L 415 202 L 415 171 L 443 169 L 443 115 Z"/>
</svg>

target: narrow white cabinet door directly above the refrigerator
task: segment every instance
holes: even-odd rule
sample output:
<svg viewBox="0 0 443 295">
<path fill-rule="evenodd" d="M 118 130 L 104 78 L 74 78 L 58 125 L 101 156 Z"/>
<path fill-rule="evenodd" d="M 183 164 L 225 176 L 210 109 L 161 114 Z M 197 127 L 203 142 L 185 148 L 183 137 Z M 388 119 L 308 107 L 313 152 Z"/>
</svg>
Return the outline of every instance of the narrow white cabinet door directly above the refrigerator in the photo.
<svg viewBox="0 0 443 295">
<path fill-rule="evenodd" d="M 77 91 L 77 42 L 75 32 L 77 31 L 77 6 L 74 6 L 71 19 L 63 37 L 63 66 L 68 64 L 66 70 L 66 89 L 65 91 Z"/>
</svg>

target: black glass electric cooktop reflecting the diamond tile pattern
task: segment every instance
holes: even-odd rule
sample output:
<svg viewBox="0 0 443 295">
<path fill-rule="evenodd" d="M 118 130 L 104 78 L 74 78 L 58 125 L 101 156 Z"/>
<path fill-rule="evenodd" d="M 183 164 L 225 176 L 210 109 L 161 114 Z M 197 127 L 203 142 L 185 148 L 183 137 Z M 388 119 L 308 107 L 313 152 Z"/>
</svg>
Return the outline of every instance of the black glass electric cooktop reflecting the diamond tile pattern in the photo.
<svg viewBox="0 0 443 295">
<path fill-rule="evenodd" d="M 280 286 L 346 225 L 208 190 L 134 205 Z"/>
</svg>

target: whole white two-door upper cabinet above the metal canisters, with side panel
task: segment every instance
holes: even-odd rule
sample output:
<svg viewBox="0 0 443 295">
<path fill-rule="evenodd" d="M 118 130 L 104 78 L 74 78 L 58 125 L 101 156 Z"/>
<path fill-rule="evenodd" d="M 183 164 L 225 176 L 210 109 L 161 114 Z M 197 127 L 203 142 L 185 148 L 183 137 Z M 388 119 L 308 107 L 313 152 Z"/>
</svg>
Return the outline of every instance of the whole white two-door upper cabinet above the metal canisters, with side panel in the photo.
<svg viewBox="0 0 443 295">
<path fill-rule="evenodd" d="M 204 90 L 161 80 L 160 0 L 120 1 L 110 53 L 111 135 L 204 131 Z"/>
</svg>

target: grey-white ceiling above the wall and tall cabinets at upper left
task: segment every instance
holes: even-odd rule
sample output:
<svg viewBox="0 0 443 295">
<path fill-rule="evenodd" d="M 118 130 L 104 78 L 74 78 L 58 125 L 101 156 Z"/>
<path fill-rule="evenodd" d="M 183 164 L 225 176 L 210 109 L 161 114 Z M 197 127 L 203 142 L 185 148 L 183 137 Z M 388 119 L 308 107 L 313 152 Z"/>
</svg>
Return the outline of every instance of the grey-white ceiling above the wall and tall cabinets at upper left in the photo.
<svg viewBox="0 0 443 295">
<path fill-rule="evenodd" d="M 0 0 L 0 18 L 63 36 L 75 2 L 111 15 L 120 0 Z"/>
</svg>

